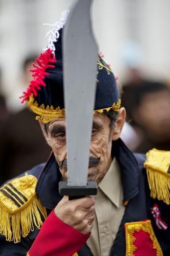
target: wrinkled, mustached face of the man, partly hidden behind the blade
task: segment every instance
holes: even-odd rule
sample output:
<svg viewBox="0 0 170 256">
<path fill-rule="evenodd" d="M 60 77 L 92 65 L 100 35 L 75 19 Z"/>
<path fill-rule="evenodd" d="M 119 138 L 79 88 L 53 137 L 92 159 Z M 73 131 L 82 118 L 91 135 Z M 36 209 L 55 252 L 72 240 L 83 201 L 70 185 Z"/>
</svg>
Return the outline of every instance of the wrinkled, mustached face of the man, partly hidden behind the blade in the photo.
<svg viewBox="0 0 170 256">
<path fill-rule="evenodd" d="M 93 115 L 92 139 L 89 157 L 88 180 L 99 183 L 111 163 L 111 147 L 114 128 L 104 114 Z M 67 152 L 65 136 L 65 117 L 53 120 L 48 127 L 48 142 L 52 147 L 61 174 L 67 179 Z"/>
</svg>

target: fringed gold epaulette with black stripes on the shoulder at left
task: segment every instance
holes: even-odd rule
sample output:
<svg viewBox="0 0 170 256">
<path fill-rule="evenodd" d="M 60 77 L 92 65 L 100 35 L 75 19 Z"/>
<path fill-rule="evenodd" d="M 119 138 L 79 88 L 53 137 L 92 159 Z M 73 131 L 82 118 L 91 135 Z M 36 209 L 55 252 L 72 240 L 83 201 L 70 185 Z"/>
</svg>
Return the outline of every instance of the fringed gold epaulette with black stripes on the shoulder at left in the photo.
<svg viewBox="0 0 170 256">
<path fill-rule="evenodd" d="M 34 228 L 41 227 L 46 209 L 36 195 L 37 178 L 16 178 L 0 188 L 0 234 L 9 242 L 20 242 Z"/>
</svg>

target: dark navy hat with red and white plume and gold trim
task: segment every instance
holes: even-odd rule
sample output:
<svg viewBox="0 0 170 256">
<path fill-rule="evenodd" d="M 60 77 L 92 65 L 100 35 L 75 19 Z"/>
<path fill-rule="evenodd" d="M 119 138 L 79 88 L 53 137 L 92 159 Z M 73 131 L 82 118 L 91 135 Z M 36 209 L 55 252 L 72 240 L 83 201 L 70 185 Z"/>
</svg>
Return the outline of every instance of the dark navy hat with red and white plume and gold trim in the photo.
<svg viewBox="0 0 170 256">
<path fill-rule="evenodd" d="M 62 19 L 62 22 L 56 24 L 59 29 L 50 31 L 48 48 L 36 59 L 38 65 L 33 64 L 34 79 L 21 97 L 23 102 L 27 101 L 34 113 L 39 114 L 36 119 L 43 123 L 65 115 L 62 61 L 62 32 L 65 20 Z M 114 74 L 99 56 L 97 64 L 94 111 L 100 113 L 110 109 L 118 111 L 120 100 Z"/>
</svg>

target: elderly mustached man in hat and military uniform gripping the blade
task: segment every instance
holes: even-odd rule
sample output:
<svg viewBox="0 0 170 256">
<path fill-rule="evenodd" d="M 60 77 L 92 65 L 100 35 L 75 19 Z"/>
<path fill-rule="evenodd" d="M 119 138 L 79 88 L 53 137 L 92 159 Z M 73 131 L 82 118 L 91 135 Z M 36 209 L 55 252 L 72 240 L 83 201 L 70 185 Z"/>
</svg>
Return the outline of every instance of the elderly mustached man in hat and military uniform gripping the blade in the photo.
<svg viewBox="0 0 170 256">
<path fill-rule="evenodd" d="M 170 152 L 151 150 L 145 159 L 119 139 L 126 112 L 101 57 L 88 172 L 98 194 L 74 200 L 59 195 L 58 183 L 67 179 L 67 152 L 62 28 L 58 33 L 55 53 L 48 48 L 39 56 L 23 95 L 38 114 L 52 154 L 1 187 L 0 256 L 168 256 Z"/>
</svg>

